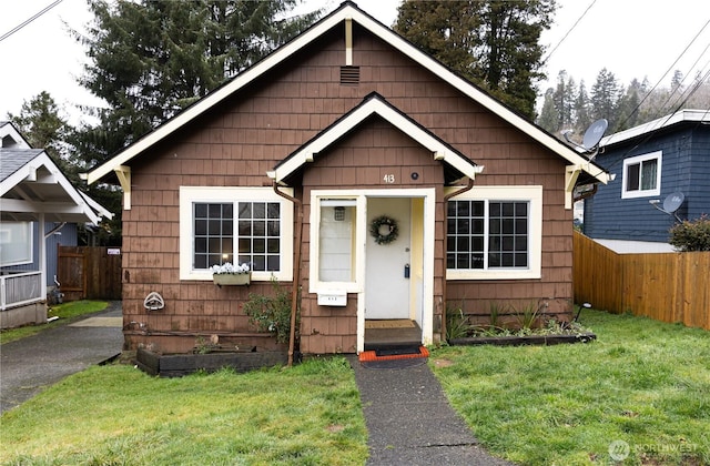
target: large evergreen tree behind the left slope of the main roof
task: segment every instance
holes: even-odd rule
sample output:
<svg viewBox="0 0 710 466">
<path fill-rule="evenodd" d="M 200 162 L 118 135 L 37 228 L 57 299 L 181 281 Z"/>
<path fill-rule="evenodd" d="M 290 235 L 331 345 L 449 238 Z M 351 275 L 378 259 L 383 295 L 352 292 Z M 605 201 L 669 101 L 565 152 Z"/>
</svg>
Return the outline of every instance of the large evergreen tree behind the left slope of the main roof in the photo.
<svg viewBox="0 0 710 466">
<path fill-rule="evenodd" d="M 296 0 L 89 0 L 90 63 L 80 82 L 106 102 L 85 109 L 91 163 L 135 141 L 305 29 L 315 13 L 284 19 Z M 90 154 L 90 155 L 89 155 Z"/>
</svg>

